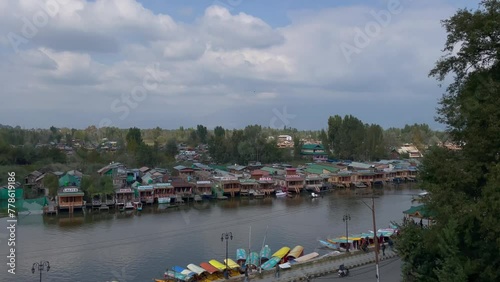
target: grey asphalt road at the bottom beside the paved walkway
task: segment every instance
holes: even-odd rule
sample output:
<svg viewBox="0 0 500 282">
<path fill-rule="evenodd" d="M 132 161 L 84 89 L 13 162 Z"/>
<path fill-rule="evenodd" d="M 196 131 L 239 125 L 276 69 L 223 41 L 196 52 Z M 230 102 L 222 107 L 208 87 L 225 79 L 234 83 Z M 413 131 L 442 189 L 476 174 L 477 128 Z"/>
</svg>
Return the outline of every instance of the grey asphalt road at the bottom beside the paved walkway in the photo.
<svg viewBox="0 0 500 282">
<path fill-rule="evenodd" d="M 323 277 L 313 278 L 310 281 L 377 281 L 375 273 L 375 264 L 367 264 L 349 270 L 349 276 L 338 277 L 337 274 L 331 274 Z M 400 282 L 401 278 L 401 259 L 394 257 L 384 260 L 379 264 L 380 281 L 381 282 Z"/>
</svg>

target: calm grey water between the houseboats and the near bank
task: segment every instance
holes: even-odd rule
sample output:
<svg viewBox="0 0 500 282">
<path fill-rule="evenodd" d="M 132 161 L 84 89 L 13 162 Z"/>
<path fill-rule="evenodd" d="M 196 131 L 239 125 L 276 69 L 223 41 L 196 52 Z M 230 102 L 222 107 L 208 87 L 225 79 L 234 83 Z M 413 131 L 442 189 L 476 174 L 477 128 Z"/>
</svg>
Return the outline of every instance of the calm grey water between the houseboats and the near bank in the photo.
<svg viewBox="0 0 500 282">
<path fill-rule="evenodd" d="M 376 189 L 377 228 L 401 221 L 411 195 L 419 192 L 415 187 Z M 237 248 L 259 251 L 264 238 L 273 253 L 283 246 L 302 245 L 305 253 L 325 254 L 318 239 L 345 235 L 344 213 L 351 215 L 350 234 L 373 230 L 372 212 L 365 205 L 371 206 L 371 201 L 354 191 L 335 191 L 316 199 L 236 198 L 170 209 L 144 207 L 142 212 L 20 216 L 16 274 L 8 274 L 4 263 L 0 281 L 38 281 L 38 270 L 32 274 L 31 268 L 41 260 L 51 265 L 43 281 L 151 281 L 163 277 L 167 267 L 210 259 L 222 262 L 224 232 L 233 234 L 228 241 L 232 259 Z M 0 231 L 0 250 L 8 255 L 6 218 L 1 220 L 5 227 Z"/>
</svg>

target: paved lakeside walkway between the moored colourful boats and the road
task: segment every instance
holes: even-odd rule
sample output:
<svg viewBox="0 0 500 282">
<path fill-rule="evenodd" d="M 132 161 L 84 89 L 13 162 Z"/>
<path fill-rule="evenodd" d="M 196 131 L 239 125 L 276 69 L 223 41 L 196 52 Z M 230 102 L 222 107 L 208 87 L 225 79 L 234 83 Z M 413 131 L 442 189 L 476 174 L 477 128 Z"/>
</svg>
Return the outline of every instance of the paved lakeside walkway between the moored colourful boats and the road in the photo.
<svg viewBox="0 0 500 282">
<path fill-rule="evenodd" d="M 382 255 L 382 252 L 379 254 L 379 261 L 393 258 L 395 256 L 397 256 L 397 254 L 388 248 L 385 250 L 385 256 Z M 308 281 L 308 278 L 325 276 L 337 272 L 338 267 L 341 264 L 344 264 L 346 268 L 351 269 L 373 262 L 375 262 L 374 251 L 370 251 L 368 253 L 358 251 L 352 254 L 326 257 L 311 263 L 293 265 L 290 269 L 281 269 L 279 277 L 276 277 L 275 270 L 265 271 L 262 274 L 252 273 L 248 281 Z M 243 275 L 232 277 L 229 281 L 245 281 L 245 277 Z"/>
</svg>

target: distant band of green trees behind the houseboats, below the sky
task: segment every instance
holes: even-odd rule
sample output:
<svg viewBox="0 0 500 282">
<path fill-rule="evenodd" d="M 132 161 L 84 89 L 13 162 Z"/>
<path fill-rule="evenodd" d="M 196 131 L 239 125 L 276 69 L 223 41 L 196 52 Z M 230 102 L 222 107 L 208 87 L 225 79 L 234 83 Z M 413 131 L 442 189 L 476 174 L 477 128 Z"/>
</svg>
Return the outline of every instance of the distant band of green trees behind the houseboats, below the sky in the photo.
<svg viewBox="0 0 500 282">
<path fill-rule="evenodd" d="M 277 137 L 282 134 L 292 136 L 294 148 L 280 149 L 276 146 Z M 115 161 L 129 166 L 169 166 L 175 162 L 180 144 L 192 148 L 207 144 L 208 154 L 199 156 L 201 162 L 269 163 L 300 158 L 303 139 L 321 141 L 332 158 L 378 160 L 389 157 L 391 150 L 404 143 L 413 143 L 423 149 L 445 141 L 446 135 L 431 130 L 426 124 L 384 130 L 377 124 L 365 124 L 352 115 L 332 116 L 328 119 L 326 130 L 319 131 L 299 131 L 290 127 L 274 129 L 260 125 L 244 129 L 217 126 L 213 130 L 203 125 L 175 130 L 95 126 L 86 129 L 51 127 L 27 130 L 1 126 L 0 165 L 76 163 L 79 167 L 88 167 Z M 116 149 L 101 150 L 105 140 L 115 141 Z M 74 151 L 66 154 L 56 145 L 68 146 Z"/>
</svg>

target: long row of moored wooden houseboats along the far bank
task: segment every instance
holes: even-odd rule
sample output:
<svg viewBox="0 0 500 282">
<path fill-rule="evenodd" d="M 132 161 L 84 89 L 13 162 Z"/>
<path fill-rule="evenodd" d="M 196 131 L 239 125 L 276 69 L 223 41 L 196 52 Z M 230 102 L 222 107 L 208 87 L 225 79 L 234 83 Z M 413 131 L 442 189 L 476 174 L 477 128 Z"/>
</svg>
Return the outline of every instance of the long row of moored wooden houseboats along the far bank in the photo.
<svg viewBox="0 0 500 282">
<path fill-rule="evenodd" d="M 134 208 L 141 204 L 171 204 L 203 199 L 226 199 L 235 196 L 264 197 L 284 191 L 299 194 L 303 191 L 319 193 L 331 188 L 366 188 L 389 182 L 413 181 L 416 169 L 371 169 L 333 171 L 333 167 L 315 164 L 312 168 L 282 169 L 261 168 L 240 171 L 211 169 L 198 164 L 193 167 L 175 167 L 175 177 L 145 169 L 127 170 L 112 166 L 99 170 L 101 175 L 112 177 L 114 193 L 98 194 L 88 201 L 89 206 L 115 206 Z M 309 170 L 308 170 L 309 169 Z M 329 171 L 332 170 L 332 171 Z M 69 183 L 76 183 L 70 181 Z M 72 211 L 85 205 L 84 193 L 77 185 L 63 186 L 57 195 L 59 209 Z M 134 204 L 135 203 L 135 204 Z"/>
</svg>

